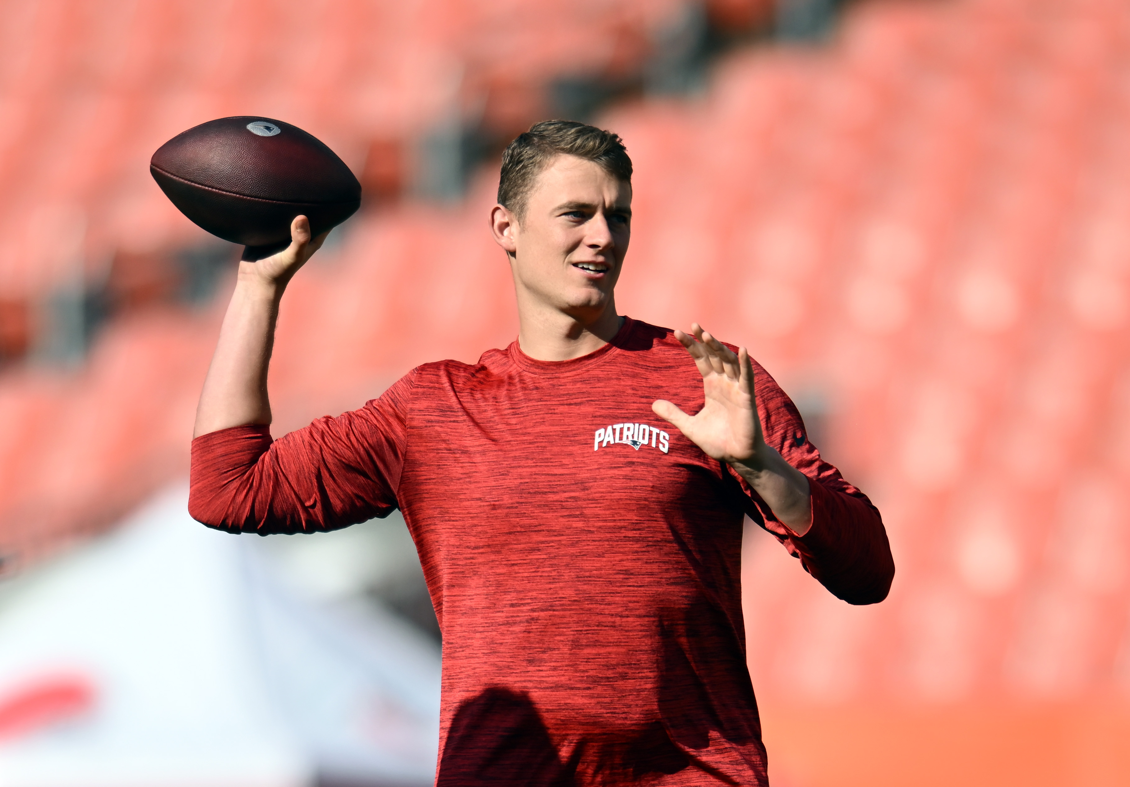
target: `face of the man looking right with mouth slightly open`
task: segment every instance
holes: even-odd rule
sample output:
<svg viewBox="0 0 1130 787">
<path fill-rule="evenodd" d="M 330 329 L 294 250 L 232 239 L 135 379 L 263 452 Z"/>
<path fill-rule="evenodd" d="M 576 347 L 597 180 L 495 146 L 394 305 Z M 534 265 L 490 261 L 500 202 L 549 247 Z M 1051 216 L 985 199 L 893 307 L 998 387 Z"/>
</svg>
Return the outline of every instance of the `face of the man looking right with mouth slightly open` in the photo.
<svg viewBox="0 0 1130 787">
<path fill-rule="evenodd" d="M 558 156 L 534 181 L 525 215 L 497 206 L 495 239 L 511 256 L 519 307 L 582 322 L 612 306 L 632 230 L 632 186 L 598 164 Z"/>
</svg>

